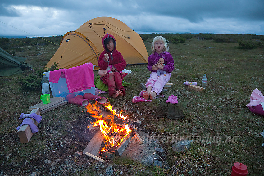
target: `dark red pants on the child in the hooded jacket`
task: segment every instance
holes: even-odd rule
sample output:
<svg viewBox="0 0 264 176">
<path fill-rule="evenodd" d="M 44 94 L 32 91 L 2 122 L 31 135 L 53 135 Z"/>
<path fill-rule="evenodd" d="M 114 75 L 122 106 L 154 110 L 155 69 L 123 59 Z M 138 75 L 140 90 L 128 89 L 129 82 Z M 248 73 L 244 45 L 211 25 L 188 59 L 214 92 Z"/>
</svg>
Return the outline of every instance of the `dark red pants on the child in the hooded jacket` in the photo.
<svg viewBox="0 0 264 176">
<path fill-rule="evenodd" d="M 109 97 L 116 93 L 117 90 L 121 90 L 123 92 L 123 96 L 125 96 L 125 88 L 122 85 L 123 79 L 124 78 L 118 71 L 116 71 L 115 74 L 108 73 L 102 77 L 103 83 L 108 86 Z"/>
</svg>

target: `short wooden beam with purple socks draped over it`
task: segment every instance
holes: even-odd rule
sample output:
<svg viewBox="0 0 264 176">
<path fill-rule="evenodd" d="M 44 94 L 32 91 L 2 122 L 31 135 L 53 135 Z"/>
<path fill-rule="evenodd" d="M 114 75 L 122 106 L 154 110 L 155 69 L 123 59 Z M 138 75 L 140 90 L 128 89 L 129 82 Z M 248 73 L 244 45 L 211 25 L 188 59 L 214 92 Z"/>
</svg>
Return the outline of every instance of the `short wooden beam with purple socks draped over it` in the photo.
<svg viewBox="0 0 264 176">
<path fill-rule="evenodd" d="M 33 114 L 33 113 L 35 113 L 35 114 L 37 114 L 37 115 L 40 115 L 40 112 L 39 112 L 39 109 L 38 109 L 38 108 L 33 109 L 33 110 L 30 112 L 30 114 Z M 39 123 L 38 123 L 35 119 L 33 119 L 33 118 L 31 118 L 31 119 L 34 120 L 34 124 L 35 124 L 36 126 L 38 126 Z M 19 128 L 19 130 L 17 131 L 17 134 L 18 134 L 18 136 L 19 136 L 19 139 L 20 139 L 20 142 L 21 142 L 21 143 L 28 143 L 28 142 L 30 141 L 32 135 L 33 135 L 30 126 L 27 125 L 27 124 L 22 125 L 22 126 Z"/>
</svg>

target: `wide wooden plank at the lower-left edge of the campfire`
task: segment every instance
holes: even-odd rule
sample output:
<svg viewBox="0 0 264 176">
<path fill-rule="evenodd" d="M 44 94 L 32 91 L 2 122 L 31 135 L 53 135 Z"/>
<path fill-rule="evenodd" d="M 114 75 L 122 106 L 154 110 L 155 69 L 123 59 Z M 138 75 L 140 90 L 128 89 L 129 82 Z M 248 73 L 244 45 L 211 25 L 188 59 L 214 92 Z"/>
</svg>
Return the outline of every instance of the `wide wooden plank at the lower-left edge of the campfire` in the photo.
<svg viewBox="0 0 264 176">
<path fill-rule="evenodd" d="M 88 145 L 85 147 L 83 153 L 91 153 L 94 156 L 99 156 L 99 153 L 102 149 L 102 142 L 103 142 L 103 133 L 100 131 L 100 129 L 98 129 L 93 138 L 90 140 L 90 142 L 88 143 Z"/>
</svg>

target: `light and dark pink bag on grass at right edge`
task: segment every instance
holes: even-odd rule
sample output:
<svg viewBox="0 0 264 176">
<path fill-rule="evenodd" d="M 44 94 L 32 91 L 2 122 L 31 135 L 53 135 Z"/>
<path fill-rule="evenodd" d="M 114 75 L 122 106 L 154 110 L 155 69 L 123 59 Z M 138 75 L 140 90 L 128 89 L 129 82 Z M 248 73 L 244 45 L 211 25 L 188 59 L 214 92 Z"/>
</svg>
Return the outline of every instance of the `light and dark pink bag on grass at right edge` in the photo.
<svg viewBox="0 0 264 176">
<path fill-rule="evenodd" d="M 264 115 L 264 96 L 258 89 L 253 90 L 249 101 L 250 103 L 246 106 L 251 112 L 254 114 Z"/>
</svg>

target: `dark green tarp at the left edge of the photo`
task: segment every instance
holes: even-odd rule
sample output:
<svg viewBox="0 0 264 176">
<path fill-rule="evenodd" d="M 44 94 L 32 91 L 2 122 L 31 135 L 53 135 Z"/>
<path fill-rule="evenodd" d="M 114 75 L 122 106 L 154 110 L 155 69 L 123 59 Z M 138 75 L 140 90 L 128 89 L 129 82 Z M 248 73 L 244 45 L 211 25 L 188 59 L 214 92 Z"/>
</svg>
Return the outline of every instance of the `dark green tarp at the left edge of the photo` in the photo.
<svg viewBox="0 0 264 176">
<path fill-rule="evenodd" d="M 21 74 L 26 67 L 31 68 L 32 65 L 24 63 L 25 60 L 24 57 L 12 56 L 0 48 L 0 76 Z"/>
</svg>

